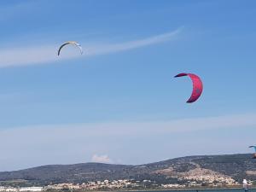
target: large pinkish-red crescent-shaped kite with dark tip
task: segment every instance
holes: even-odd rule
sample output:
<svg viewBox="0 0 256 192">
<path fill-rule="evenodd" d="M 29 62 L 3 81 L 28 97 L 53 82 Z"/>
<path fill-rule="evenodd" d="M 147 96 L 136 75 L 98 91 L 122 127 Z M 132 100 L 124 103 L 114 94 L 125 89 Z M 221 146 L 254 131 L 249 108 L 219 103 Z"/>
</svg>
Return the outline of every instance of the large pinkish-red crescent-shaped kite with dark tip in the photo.
<svg viewBox="0 0 256 192">
<path fill-rule="evenodd" d="M 201 92 L 203 90 L 203 84 L 201 82 L 201 79 L 197 75 L 192 73 L 179 73 L 174 78 L 179 78 L 183 76 L 189 76 L 193 83 L 192 94 L 187 102 L 195 102 L 201 96 Z"/>
</svg>

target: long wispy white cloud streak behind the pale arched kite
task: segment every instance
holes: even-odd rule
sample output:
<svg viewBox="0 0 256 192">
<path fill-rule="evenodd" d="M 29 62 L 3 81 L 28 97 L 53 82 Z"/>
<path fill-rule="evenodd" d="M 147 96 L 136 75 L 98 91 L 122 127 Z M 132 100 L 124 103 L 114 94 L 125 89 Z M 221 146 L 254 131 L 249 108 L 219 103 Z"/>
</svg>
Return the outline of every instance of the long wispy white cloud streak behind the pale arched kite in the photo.
<svg viewBox="0 0 256 192">
<path fill-rule="evenodd" d="M 118 43 L 118 44 L 96 44 L 89 47 L 84 46 L 84 57 L 93 55 L 110 54 L 129 49 L 136 49 L 153 44 L 160 44 L 175 39 L 182 31 L 179 28 L 173 32 L 156 35 L 149 38 L 138 39 L 134 41 Z M 53 61 L 61 61 L 72 59 L 74 57 L 81 57 L 74 53 L 65 53 L 60 57 L 56 55 L 58 49 L 57 44 L 49 46 L 33 46 L 33 47 L 19 47 L 11 49 L 0 49 L 0 67 L 21 67 L 27 65 L 44 64 Z"/>
</svg>

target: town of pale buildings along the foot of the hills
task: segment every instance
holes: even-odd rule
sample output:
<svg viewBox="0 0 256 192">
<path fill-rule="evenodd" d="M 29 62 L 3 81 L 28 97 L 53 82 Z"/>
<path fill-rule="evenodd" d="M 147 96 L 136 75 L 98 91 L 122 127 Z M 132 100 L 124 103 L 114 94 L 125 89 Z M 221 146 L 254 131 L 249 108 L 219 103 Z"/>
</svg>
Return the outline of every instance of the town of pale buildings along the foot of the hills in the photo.
<svg viewBox="0 0 256 192">
<path fill-rule="evenodd" d="M 253 187 L 252 181 L 248 181 L 249 187 Z M 3 192 L 25 192 L 25 191 L 93 191 L 93 190 L 129 190 L 129 189 L 213 189 L 213 188 L 241 188 L 231 177 L 222 176 L 200 176 L 180 177 L 178 183 L 161 184 L 151 180 L 138 181 L 135 179 L 119 179 L 109 181 L 85 182 L 85 183 L 56 183 L 46 186 L 32 187 L 10 187 L 0 186 Z"/>
</svg>

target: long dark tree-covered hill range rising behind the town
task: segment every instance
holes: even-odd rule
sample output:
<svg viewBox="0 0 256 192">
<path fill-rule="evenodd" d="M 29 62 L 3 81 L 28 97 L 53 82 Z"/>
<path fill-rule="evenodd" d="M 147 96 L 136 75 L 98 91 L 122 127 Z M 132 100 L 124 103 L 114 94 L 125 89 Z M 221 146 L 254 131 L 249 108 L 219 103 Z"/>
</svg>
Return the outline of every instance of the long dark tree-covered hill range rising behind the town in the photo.
<svg viewBox="0 0 256 192">
<path fill-rule="evenodd" d="M 226 154 L 188 156 L 139 166 L 102 163 L 38 166 L 15 172 L 0 172 L 0 183 L 84 183 L 125 178 L 177 183 L 180 182 L 178 177 L 196 174 L 220 174 L 237 181 L 242 178 L 256 180 L 256 160 L 252 159 L 252 154 Z"/>
</svg>

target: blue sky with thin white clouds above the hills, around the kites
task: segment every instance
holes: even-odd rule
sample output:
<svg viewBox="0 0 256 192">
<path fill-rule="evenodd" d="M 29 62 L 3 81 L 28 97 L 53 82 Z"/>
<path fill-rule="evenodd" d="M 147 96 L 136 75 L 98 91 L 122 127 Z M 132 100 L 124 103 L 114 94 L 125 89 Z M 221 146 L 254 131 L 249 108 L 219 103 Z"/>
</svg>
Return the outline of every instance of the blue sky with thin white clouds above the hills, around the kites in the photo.
<svg viewBox="0 0 256 192">
<path fill-rule="evenodd" d="M 0 171 L 250 153 L 254 23 L 254 1 L 1 2 Z"/>
</svg>

